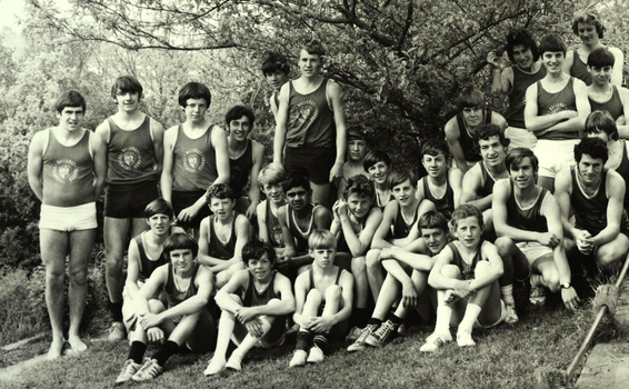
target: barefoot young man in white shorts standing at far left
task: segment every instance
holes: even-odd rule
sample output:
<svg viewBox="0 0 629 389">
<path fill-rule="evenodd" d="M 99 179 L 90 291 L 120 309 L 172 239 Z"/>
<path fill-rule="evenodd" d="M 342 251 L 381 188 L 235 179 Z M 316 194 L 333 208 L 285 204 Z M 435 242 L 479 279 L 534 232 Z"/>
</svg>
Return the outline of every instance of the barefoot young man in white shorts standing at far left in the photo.
<svg viewBox="0 0 629 389">
<path fill-rule="evenodd" d="M 102 140 L 81 128 L 86 100 L 77 91 L 54 103 L 59 126 L 36 133 L 29 148 L 29 184 L 42 202 L 41 259 L 46 266 L 46 305 L 52 327 L 48 358 L 61 356 L 63 345 L 63 277 L 70 259 L 70 330 L 72 351 L 84 351 L 79 327 L 88 292 L 88 260 L 97 229 L 96 201 L 104 186 L 106 149 Z"/>
</svg>

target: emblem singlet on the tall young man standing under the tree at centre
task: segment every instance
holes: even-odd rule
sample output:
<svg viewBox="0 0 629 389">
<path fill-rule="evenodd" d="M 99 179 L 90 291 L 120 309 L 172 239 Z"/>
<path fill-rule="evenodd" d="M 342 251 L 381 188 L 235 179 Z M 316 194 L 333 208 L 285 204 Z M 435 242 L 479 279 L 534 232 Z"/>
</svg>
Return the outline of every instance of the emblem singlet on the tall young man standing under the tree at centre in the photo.
<svg viewBox="0 0 629 389">
<path fill-rule="evenodd" d="M 289 117 L 286 133 L 288 148 L 332 148 L 337 127 L 335 116 L 328 104 L 328 82 L 323 79 L 319 88 L 309 94 L 294 90 L 289 81 Z"/>
</svg>

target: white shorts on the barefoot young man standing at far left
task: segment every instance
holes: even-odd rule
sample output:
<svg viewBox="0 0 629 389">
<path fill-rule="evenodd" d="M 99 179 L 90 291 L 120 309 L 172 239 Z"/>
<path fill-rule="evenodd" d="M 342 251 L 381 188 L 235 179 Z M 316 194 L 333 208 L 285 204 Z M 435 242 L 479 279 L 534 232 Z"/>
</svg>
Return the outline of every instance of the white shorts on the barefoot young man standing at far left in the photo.
<svg viewBox="0 0 629 389">
<path fill-rule="evenodd" d="M 74 207 L 54 207 L 41 205 L 39 228 L 56 231 L 91 230 L 98 227 L 96 202 Z"/>
</svg>

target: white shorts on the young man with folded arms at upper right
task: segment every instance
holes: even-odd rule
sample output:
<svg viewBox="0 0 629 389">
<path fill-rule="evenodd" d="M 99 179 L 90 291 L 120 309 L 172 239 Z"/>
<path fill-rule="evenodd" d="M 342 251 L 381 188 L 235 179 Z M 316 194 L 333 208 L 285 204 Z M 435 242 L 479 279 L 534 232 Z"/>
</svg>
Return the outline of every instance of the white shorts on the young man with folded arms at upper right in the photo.
<svg viewBox="0 0 629 389">
<path fill-rule="evenodd" d="M 577 164 L 575 161 L 575 146 L 580 141 L 580 139 L 539 139 L 533 150 L 539 160 L 539 176 L 555 178 L 561 168 Z"/>
</svg>

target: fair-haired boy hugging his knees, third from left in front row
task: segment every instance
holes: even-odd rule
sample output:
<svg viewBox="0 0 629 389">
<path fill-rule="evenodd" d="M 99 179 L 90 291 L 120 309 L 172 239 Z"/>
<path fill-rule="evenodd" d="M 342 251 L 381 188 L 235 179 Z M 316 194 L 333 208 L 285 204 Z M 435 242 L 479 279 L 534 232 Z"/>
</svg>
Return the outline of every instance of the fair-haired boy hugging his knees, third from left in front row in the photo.
<svg viewBox="0 0 629 389">
<path fill-rule="evenodd" d="M 335 236 L 327 230 L 313 231 L 308 247 L 312 268 L 294 282 L 297 309 L 292 318 L 299 325 L 299 332 L 290 367 L 322 362 L 328 337 L 342 339 L 351 315 L 353 277 L 333 265 Z"/>
</svg>

